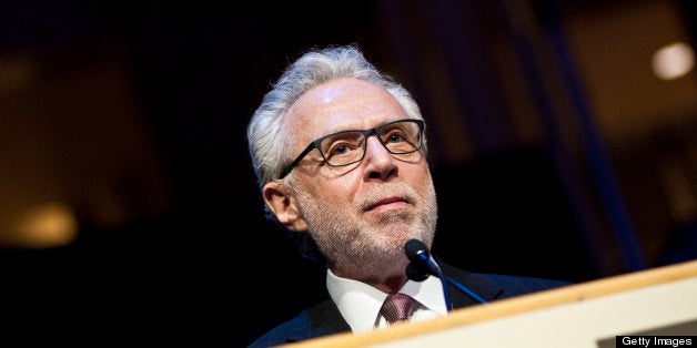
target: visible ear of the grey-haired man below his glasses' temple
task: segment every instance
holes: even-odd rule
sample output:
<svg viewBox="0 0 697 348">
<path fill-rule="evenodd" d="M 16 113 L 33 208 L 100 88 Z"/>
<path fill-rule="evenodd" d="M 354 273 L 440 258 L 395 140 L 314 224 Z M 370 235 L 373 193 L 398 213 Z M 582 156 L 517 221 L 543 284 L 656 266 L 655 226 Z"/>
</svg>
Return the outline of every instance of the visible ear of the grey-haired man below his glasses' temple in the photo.
<svg viewBox="0 0 697 348">
<path fill-rule="evenodd" d="M 291 231 L 305 231 L 307 224 L 297 211 L 293 194 L 277 182 L 270 182 L 262 190 L 264 203 L 279 222 Z"/>
</svg>

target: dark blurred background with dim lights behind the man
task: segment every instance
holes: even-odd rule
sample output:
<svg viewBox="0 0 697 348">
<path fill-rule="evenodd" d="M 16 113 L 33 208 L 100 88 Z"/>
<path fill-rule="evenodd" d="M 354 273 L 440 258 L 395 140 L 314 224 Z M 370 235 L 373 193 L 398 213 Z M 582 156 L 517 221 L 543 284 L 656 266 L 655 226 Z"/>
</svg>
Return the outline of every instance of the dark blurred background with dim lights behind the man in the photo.
<svg viewBox="0 0 697 348">
<path fill-rule="evenodd" d="M 3 0 L 0 301 L 77 335 L 232 346 L 311 304 L 323 269 L 264 218 L 245 126 L 291 60 L 345 43 L 422 106 L 436 256 L 569 282 L 693 259 L 695 11 Z"/>
</svg>

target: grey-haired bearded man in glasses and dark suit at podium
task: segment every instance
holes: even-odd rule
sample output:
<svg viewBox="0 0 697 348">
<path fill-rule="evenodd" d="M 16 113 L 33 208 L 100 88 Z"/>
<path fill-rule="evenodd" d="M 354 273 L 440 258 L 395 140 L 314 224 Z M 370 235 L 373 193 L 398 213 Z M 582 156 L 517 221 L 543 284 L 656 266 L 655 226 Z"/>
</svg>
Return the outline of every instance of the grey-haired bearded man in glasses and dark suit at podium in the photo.
<svg viewBox="0 0 697 348">
<path fill-rule="evenodd" d="M 326 265 L 329 296 L 251 346 L 385 327 L 383 301 L 397 293 L 417 321 L 566 284 L 442 262 L 442 274 L 473 295 L 444 291 L 436 276 L 407 277 L 406 243 L 430 248 L 437 218 L 424 129 L 411 94 L 355 45 L 312 50 L 289 65 L 250 122 L 250 153 L 269 216 Z"/>
</svg>

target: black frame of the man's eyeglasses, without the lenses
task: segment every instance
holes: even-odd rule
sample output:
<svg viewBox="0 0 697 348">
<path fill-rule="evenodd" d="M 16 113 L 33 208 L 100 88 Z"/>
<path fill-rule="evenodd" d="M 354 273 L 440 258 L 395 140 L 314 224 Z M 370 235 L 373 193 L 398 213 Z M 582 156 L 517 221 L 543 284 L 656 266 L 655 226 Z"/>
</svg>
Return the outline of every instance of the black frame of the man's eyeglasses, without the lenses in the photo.
<svg viewBox="0 0 697 348">
<path fill-rule="evenodd" d="M 413 122 L 416 123 L 416 125 L 418 126 L 418 146 L 416 149 L 414 149 L 414 151 L 410 151 L 410 152 L 392 152 L 390 149 L 387 149 L 387 145 L 385 145 L 385 143 L 383 143 L 383 140 L 378 136 L 378 131 L 387 125 L 394 124 L 394 123 L 398 123 L 398 122 Z M 324 160 L 324 163 L 326 163 L 329 166 L 346 166 L 346 165 L 351 165 L 357 162 L 363 161 L 363 157 L 365 157 L 365 146 L 367 146 L 367 139 L 371 135 L 375 135 L 375 137 L 377 137 L 377 141 L 383 145 L 383 147 L 385 147 L 385 150 L 387 150 L 387 152 L 390 152 L 391 154 L 395 154 L 395 155 L 403 155 L 403 154 L 407 154 L 407 153 L 413 153 L 416 152 L 418 150 L 421 150 L 421 147 L 423 147 L 424 144 L 424 129 L 425 129 L 425 122 L 423 120 L 417 120 L 417 119 L 401 119 L 401 120 L 395 120 L 395 121 L 391 121 L 387 123 L 383 123 L 378 126 L 372 127 L 372 129 L 367 129 L 367 130 L 345 130 L 345 131 L 339 131 L 332 134 L 327 134 L 324 135 L 322 137 L 316 139 L 315 141 L 313 141 L 312 143 L 310 143 L 310 145 L 307 145 L 307 147 L 305 147 L 305 150 L 303 150 L 303 152 L 300 153 L 300 155 L 297 155 L 297 157 L 295 157 L 295 160 L 285 167 L 285 170 L 283 170 L 283 172 L 281 172 L 281 175 L 279 176 L 279 180 L 284 178 L 286 175 L 289 175 L 291 173 L 291 171 L 297 166 L 297 164 L 300 164 L 300 161 L 302 161 L 311 151 L 317 149 L 317 151 L 320 152 L 320 154 L 322 155 L 322 160 Z M 320 144 L 322 144 L 322 141 L 330 137 L 330 136 L 334 136 L 336 134 L 342 134 L 342 133 L 348 133 L 348 132 L 360 132 L 361 134 L 363 134 L 364 141 L 363 141 L 363 155 L 361 156 L 361 158 L 350 162 L 350 163 L 345 163 L 345 164 L 340 164 L 340 165 L 333 165 L 330 164 L 326 161 L 326 157 L 324 156 L 324 152 L 322 151 L 322 147 L 320 146 Z"/>
</svg>

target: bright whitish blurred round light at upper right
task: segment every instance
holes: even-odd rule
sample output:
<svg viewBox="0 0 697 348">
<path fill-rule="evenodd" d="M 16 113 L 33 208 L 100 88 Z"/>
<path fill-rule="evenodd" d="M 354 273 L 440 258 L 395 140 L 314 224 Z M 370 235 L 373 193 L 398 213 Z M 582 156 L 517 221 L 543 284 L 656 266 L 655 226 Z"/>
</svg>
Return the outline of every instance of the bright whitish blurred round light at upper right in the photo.
<svg viewBox="0 0 697 348">
<path fill-rule="evenodd" d="M 687 43 L 676 42 L 654 53 L 651 68 L 660 80 L 674 80 L 686 75 L 695 65 L 695 52 Z"/>
</svg>

